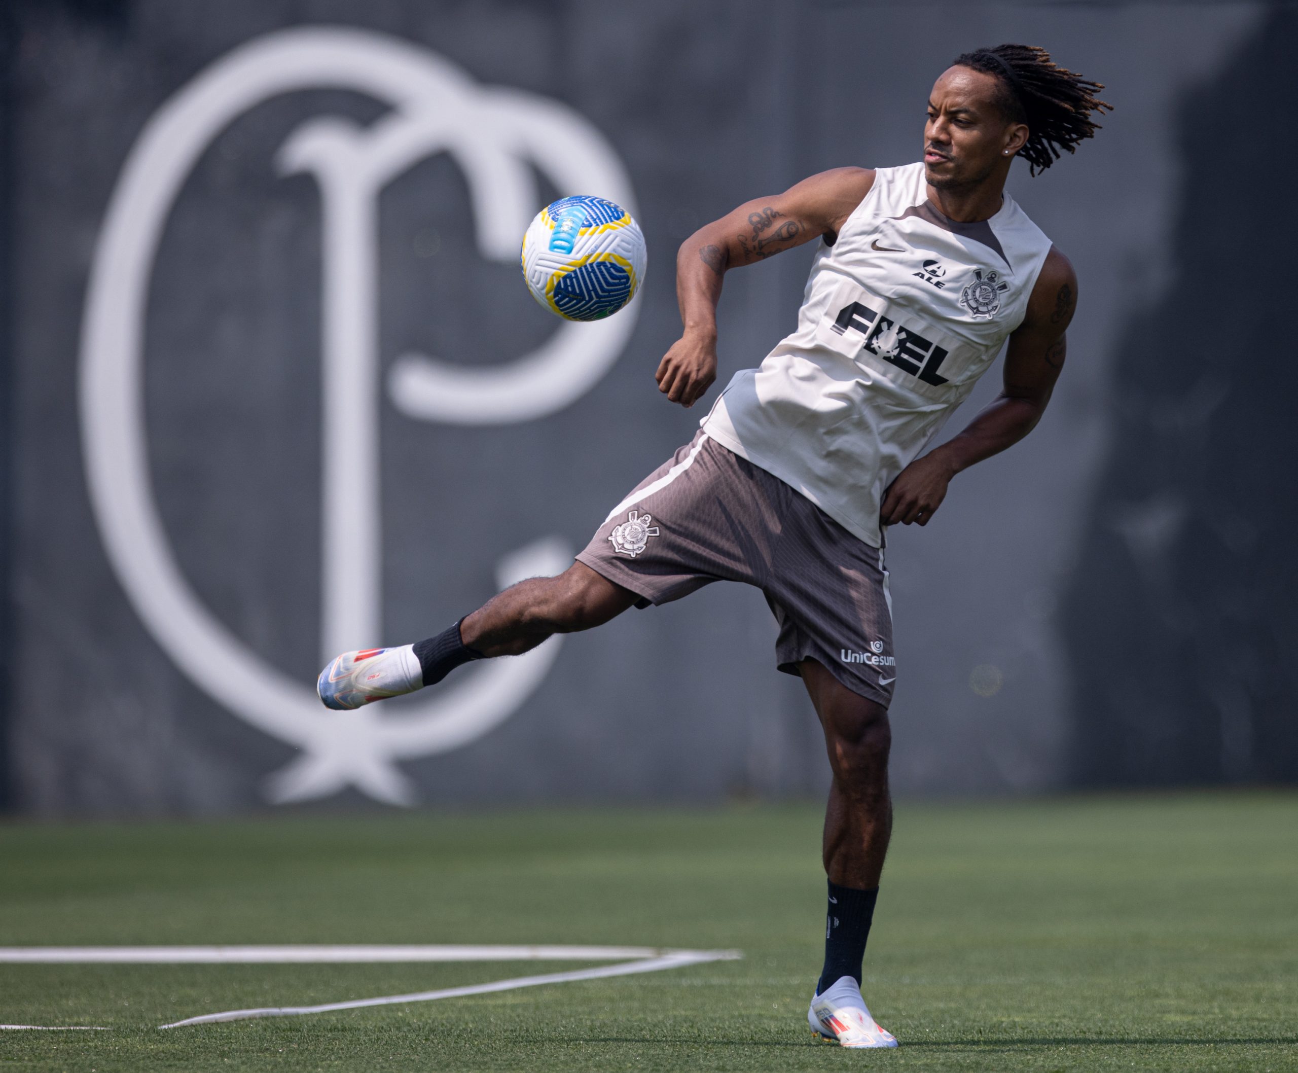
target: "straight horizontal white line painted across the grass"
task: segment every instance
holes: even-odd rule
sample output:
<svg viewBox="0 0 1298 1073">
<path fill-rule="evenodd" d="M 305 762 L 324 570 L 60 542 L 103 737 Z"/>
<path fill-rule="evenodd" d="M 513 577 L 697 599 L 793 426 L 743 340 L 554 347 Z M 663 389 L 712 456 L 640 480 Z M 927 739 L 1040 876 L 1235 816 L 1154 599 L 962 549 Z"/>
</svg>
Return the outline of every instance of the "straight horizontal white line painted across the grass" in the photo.
<svg viewBox="0 0 1298 1073">
<path fill-rule="evenodd" d="M 649 946 L 3 946 L 0 963 L 118 965 L 619 961 L 693 952 Z"/>
</svg>

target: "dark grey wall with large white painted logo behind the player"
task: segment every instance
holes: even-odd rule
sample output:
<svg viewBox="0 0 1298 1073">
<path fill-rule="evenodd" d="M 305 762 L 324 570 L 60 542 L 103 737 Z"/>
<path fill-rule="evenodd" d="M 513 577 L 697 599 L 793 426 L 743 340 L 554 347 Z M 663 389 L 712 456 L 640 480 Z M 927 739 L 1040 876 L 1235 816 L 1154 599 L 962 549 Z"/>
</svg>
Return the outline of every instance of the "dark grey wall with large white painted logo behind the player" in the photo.
<svg viewBox="0 0 1298 1073">
<path fill-rule="evenodd" d="M 826 167 L 916 160 L 933 79 L 1002 40 L 1103 82 L 1115 112 L 1011 179 L 1081 280 L 1049 414 L 889 536 L 896 786 L 1298 778 L 1276 182 L 1294 151 L 1275 126 L 1292 8 L 44 0 L 10 4 L 5 31 L 9 808 L 823 793 L 810 705 L 740 586 L 347 723 L 312 707 L 323 634 L 350 614 L 323 623 L 322 546 L 357 524 L 322 509 L 322 393 L 350 375 L 374 396 L 374 459 L 339 501 L 378 489 L 380 636 L 349 644 L 428 636 L 565 562 L 692 436 L 700 410 L 652 379 L 679 330 L 676 245 Z M 550 117 L 541 144 L 509 134 L 528 109 Z M 421 122 L 431 148 L 375 179 L 371 135 Z M 578 344 L 604 371 L 559 356 L 571 398 L 421 411 L 405 356 L 495 367 L 508 393 L 559 327 L 491 237 L 520 209 L 492 201 L 484 154 L 524 176 L 527 217 L 574 192 L 630 201 L 648 282 L 626 339 Z M 727 276 L 722 384 L 790 330 L 810 257 Z"/>
</svg>

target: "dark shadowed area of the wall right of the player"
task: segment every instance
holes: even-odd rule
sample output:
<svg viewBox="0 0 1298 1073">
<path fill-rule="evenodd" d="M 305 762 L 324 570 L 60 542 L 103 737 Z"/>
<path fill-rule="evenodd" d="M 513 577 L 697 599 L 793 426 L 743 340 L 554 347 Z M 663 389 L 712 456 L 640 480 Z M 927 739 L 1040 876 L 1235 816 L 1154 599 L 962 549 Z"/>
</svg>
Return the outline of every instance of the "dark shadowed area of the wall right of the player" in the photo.
<svg viewBox="0 0 1298 1073">
<path fill-rule="evenodd" d="M 1110 461 L 1063 605 L 1079 781 L 1298 778 L 1298 222 L 1281 179 L 1298 152 L 1266 119 L 1295 47 L 1298 13 L 1277 10 L 1173 114 L 1189 162 L 1173 275 L 1119 349 Z"/>
</svg>

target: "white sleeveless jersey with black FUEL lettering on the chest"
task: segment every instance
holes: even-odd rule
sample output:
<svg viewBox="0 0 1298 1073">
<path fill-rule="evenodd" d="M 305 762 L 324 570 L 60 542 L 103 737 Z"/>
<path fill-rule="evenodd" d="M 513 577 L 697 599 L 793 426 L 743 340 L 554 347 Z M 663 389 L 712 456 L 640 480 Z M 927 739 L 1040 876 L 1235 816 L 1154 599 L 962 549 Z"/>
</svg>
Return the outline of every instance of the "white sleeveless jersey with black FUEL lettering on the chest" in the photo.
<svg viewBox="0 0 1298 1073">
<path fill-rule="evenodd" d="M 704 429 L 879 548 L 884 492 L 1023 322 L 1049 252 L 1010 195 L 958 223 L 923 163 L 879 169 L 822 243 L 797 331 L 735 375 Z"/>
</svg>

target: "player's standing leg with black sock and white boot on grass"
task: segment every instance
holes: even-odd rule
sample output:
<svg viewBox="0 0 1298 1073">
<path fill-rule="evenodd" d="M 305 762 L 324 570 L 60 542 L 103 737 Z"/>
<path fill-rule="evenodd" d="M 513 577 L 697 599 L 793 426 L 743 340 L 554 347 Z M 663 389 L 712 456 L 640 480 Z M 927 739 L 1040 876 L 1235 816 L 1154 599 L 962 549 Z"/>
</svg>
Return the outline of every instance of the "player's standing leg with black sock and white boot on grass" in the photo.
<svg viewBox="0 0 1298 1073">
<path fill-rule="evenodd" d="M 822 663 L 806 659 L 800 667 L 833 771 L 823 843 L 829 878 L 824 968 L 807 1021 L 819 1037 L 844 1047 L 896 1047 L 861 996 L 866 939 L 892 836 L 888 711 L 853 693 Z"/>
</svg>

